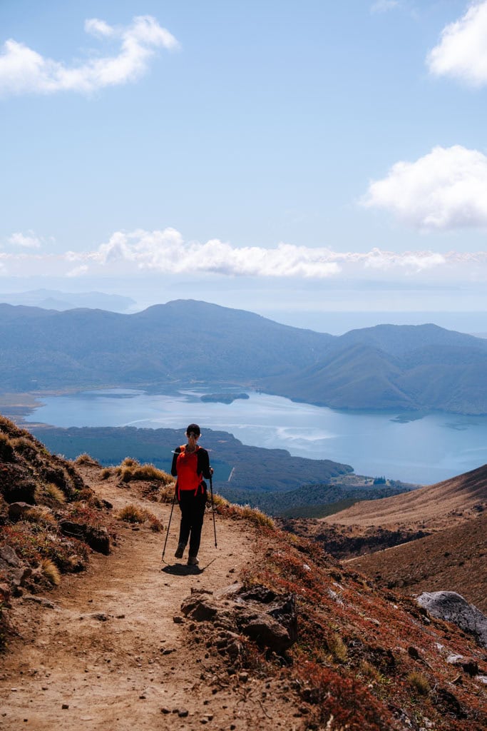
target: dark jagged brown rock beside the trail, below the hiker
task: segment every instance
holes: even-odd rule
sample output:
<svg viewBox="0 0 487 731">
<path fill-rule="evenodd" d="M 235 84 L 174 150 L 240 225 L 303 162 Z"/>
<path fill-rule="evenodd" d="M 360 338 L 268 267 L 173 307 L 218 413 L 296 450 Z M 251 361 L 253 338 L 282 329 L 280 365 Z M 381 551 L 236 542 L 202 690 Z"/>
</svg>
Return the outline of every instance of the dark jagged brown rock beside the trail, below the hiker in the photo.
<svg viewBox="0 0 487 731">
<path fill-rule="evenodd" d="M 233 585 L 218 595 L 193 589 L 181 605 L 185 616 L 246 635 L 263 648 L 283 654 L 298 637 L 293 594 L 275 594 L 264 586 L 245 590 Z"/>
</svg>

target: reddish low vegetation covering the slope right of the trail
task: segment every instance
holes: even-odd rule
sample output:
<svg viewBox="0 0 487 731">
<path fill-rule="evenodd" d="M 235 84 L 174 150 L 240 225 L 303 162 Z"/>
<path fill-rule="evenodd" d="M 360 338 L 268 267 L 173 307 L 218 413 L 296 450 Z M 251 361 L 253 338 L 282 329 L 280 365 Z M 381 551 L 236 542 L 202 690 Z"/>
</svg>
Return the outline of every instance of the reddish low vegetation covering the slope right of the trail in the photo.
<svg viewBox="0 0 487 731">
<path fill-rule="evenodd" d="M 314 709 L 310 728 L 483 730 L 481 683 L 464 674 L 452 686 L 447 662 L 468 654 L 485 672 L 473 639 L 426 617 L 413 599 L 377 590 L 314 542 L 264 526 L 259 542 L 264 560 L 243 580 L 296 597 L 299 639 L 287 672 Z"/>
</svg>

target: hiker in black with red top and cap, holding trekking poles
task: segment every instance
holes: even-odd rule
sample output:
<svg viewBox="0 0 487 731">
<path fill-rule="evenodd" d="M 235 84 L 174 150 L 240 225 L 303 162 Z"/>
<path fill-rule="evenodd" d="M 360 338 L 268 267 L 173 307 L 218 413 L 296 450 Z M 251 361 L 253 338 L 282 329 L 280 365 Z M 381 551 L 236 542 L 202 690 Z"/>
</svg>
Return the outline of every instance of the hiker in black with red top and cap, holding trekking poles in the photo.
<svg viewBox="0 0 487 731">
<path fill-rule="evenodd" d="M 201 436 L 197 424 L 186 429 L 188 444 L 182 444 L 174 451 L 171 474 L 177 477 L 176 497 L 181 510 L 179 541 L 176 558 L 183 558 L 189 540 L 188 566 L 197 566 L 199 542 L 202 537 L 204 508 L 207 504 L 207 480 L 213 474 L 207 450 L 197 444 Z"/>
</svg>

